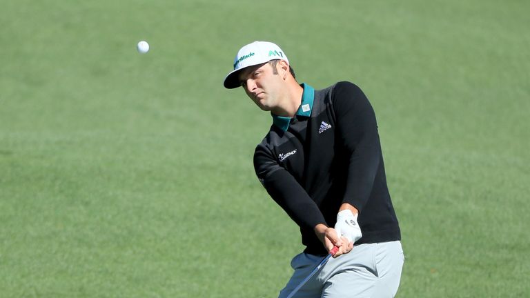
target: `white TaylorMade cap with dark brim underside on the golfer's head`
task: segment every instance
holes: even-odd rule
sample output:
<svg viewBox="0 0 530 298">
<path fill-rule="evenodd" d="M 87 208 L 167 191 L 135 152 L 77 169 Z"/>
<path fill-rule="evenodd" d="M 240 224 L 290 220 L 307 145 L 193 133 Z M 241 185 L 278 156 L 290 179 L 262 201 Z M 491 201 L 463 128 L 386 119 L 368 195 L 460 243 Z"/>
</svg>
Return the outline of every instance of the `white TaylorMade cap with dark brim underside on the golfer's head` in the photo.
<svg viewBox="0 0 530 298">
<path fill-rule="evenodd" d="M 234 70 L 224 78 L 224 88 L 233 89 L 241 86 L 239 83 L 239 70 L 248 66 L 280 59 L 289 63 L 287 56 L 279 46 L 268 41 L 254 41 L 239 49 L 234 59 Z"/>
</svg>

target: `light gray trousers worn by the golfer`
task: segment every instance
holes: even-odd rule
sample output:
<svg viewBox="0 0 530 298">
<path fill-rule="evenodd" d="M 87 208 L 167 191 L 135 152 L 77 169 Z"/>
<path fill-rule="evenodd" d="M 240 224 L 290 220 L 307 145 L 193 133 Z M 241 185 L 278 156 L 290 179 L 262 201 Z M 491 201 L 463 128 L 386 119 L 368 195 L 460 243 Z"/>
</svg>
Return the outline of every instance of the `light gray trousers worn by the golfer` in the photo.
<svg viewBox="0 0 530 298">
<path fill-rule="evenodd" d="M 322 261 L 301 253 L 291 261 L 295 270 L 279 298 L 287 297 Z M 330 258 L 294 297 L 394 297 L 400 286 L 404 255 L 400 241 L 360 244 L 346 255 Z"/>
</svg>

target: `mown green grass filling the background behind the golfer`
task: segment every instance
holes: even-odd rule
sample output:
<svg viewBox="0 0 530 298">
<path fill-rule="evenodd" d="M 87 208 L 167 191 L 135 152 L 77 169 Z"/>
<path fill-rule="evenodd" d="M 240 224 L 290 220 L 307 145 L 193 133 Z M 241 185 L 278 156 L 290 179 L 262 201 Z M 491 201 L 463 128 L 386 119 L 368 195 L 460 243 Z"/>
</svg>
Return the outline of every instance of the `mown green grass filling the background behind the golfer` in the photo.
<svg viewBox="0 0 530 298">
<path fill-rule="evenodd" d="M 1 297 L 275 297 L 297 228 L 253 173 L 271 123 L 222 88 L 277 42 L 373 103 L 406 255 L 398 297 L 526 297 L 526 1 L 8 1 Z M 135 51 L 150 43 L 148 54 Z"/>
</svg>

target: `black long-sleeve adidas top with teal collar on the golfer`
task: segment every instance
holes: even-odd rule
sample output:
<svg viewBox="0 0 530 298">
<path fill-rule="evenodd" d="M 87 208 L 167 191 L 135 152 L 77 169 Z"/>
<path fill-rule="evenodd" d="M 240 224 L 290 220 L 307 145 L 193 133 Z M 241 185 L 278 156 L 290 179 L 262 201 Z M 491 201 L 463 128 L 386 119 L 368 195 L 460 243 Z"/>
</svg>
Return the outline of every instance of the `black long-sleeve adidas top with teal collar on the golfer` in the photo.
<svg viewBox="0 0 530 298">
<path fill-rule="evenodd" d="M 254 167 L 268 194 L 300 226 L 304 251 L 327 253 L 313 229 L 333 227 L 342 203 L 359 210 L 362 238 L 355 244 L 400 240 L 368 99 L 349 82 L 324 90 L 302 87 L 294 118 L 273 115 Z"/>
</svg>

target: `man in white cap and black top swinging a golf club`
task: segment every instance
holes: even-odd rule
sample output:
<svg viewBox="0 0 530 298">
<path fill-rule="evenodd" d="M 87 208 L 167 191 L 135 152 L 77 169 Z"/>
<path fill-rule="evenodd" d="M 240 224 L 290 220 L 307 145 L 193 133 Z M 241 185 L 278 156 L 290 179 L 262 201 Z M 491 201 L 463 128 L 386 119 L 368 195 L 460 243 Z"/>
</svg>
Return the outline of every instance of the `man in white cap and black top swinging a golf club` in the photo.
<svg viewBox="0 0 530 298">
<path fill-rule="evenodd" d="M 393 297 L 404 261 L 386 186 L 373 108 L 349 82 L 323 90 L 297 83 L 274 43 L 242 47 L 224 87 L 242 86 L 273 124 L 254 167 L 267 192 L 300 226 L 304 252 L 279 297 L 340 249 L 295 297 Z M 355 248 L 353 245 L 355 244 Z M 341 256 L 342 257 L 339 257 Z"/>
</svg>

